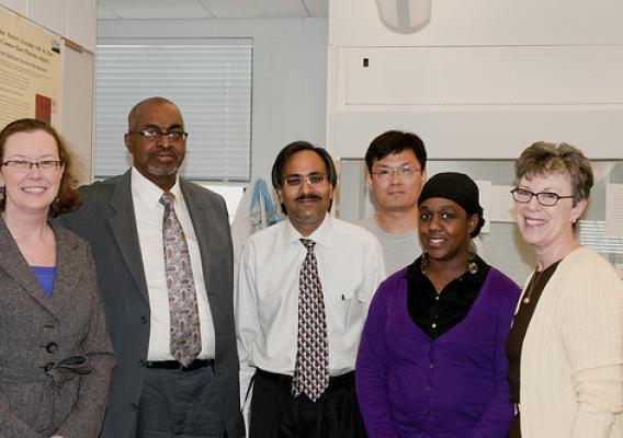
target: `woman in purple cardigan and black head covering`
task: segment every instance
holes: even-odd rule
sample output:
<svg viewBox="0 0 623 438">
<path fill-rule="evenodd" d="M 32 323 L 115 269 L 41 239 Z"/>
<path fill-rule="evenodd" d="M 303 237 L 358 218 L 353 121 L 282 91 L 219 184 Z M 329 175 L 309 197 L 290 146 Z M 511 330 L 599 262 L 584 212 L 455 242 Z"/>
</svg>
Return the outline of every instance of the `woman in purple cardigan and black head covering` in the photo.
<svg viewBox="0 0 623 438">
<path fill-rule="evenodd" d="M 505 353 L 519 287 L 471 252 L 478 187 L 440 173 L 418 200 L 422 256 L 377 289 L 356 360 L 371 438 L 502 438 L 513 407 Z"/>
</svg>

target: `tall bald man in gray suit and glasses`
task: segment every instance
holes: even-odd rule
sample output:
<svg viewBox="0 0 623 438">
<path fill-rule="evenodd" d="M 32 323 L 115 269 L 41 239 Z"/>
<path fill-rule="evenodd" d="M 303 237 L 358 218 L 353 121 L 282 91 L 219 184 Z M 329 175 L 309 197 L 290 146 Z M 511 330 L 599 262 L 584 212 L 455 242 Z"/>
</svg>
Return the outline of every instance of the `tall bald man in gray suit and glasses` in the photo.
<svg viewBox="0 0 623 438">
<path fill-rule="evenodd" d="M 81 187 L 83 205 L 61 218 L 91 243 L 117 355 L 104 438 L 243 435 L 227 209 L 220 196 L 178 176 L 186 137 L 172 102 L 139 102 L 124 136 L 133 168 Z M 171 251 L 170 239 L 183 246 Z M 171 269 L 190 278 L 182 292 L 171 291 L 180 287 Z M 189 332 L 174 316 L 180 302 L 192 313 L 182 328 L 195 327 L 181 339 Z M 194 353 L 179 355 L 180 341 L 194 343 Z"/>
</svg>

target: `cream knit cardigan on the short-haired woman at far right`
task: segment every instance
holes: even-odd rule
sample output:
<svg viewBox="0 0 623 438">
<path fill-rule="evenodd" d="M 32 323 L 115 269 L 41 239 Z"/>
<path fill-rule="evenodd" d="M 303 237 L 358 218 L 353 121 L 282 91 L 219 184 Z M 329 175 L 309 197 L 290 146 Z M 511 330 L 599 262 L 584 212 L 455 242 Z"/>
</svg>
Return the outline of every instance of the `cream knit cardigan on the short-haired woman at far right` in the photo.
<svg viewBox="0 0 623 438">
<path fill-rule="evenodd" d="M 520 372 L 522 438 L 623 438 L 623 281 L 594 251 L 545 286 Z"/>
</svg>

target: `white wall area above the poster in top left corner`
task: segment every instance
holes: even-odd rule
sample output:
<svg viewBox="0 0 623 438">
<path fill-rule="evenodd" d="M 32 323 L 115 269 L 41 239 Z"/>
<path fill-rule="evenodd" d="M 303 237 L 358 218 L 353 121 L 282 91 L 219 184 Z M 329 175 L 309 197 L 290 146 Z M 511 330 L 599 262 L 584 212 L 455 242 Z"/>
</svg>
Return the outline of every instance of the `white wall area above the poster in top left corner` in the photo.
<svg viewBox="0 0 623 438">
<path fill-rule="evenodd" d="M 0 0 L 0 4 L 88 50 L 95 50 L 95 0 Z"/>
</svg>

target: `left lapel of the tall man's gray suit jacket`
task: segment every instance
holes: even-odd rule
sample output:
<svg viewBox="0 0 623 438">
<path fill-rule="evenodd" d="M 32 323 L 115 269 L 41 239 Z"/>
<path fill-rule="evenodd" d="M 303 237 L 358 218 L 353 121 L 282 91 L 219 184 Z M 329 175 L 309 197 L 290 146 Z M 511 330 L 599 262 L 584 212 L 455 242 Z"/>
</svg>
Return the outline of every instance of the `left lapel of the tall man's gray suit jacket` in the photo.
<svg viewBox="0 0 623 438">
<path fill-rule="evenodd" d="M 111 197 L 113 214 L 109 217 L 109 224 L 140 296 L 149 303 L 138 231 L 136 230 L 136 217 L 132 203 L 131 174 L 132 170 L 124 173 L 115 186 Z"/>
</svg>

